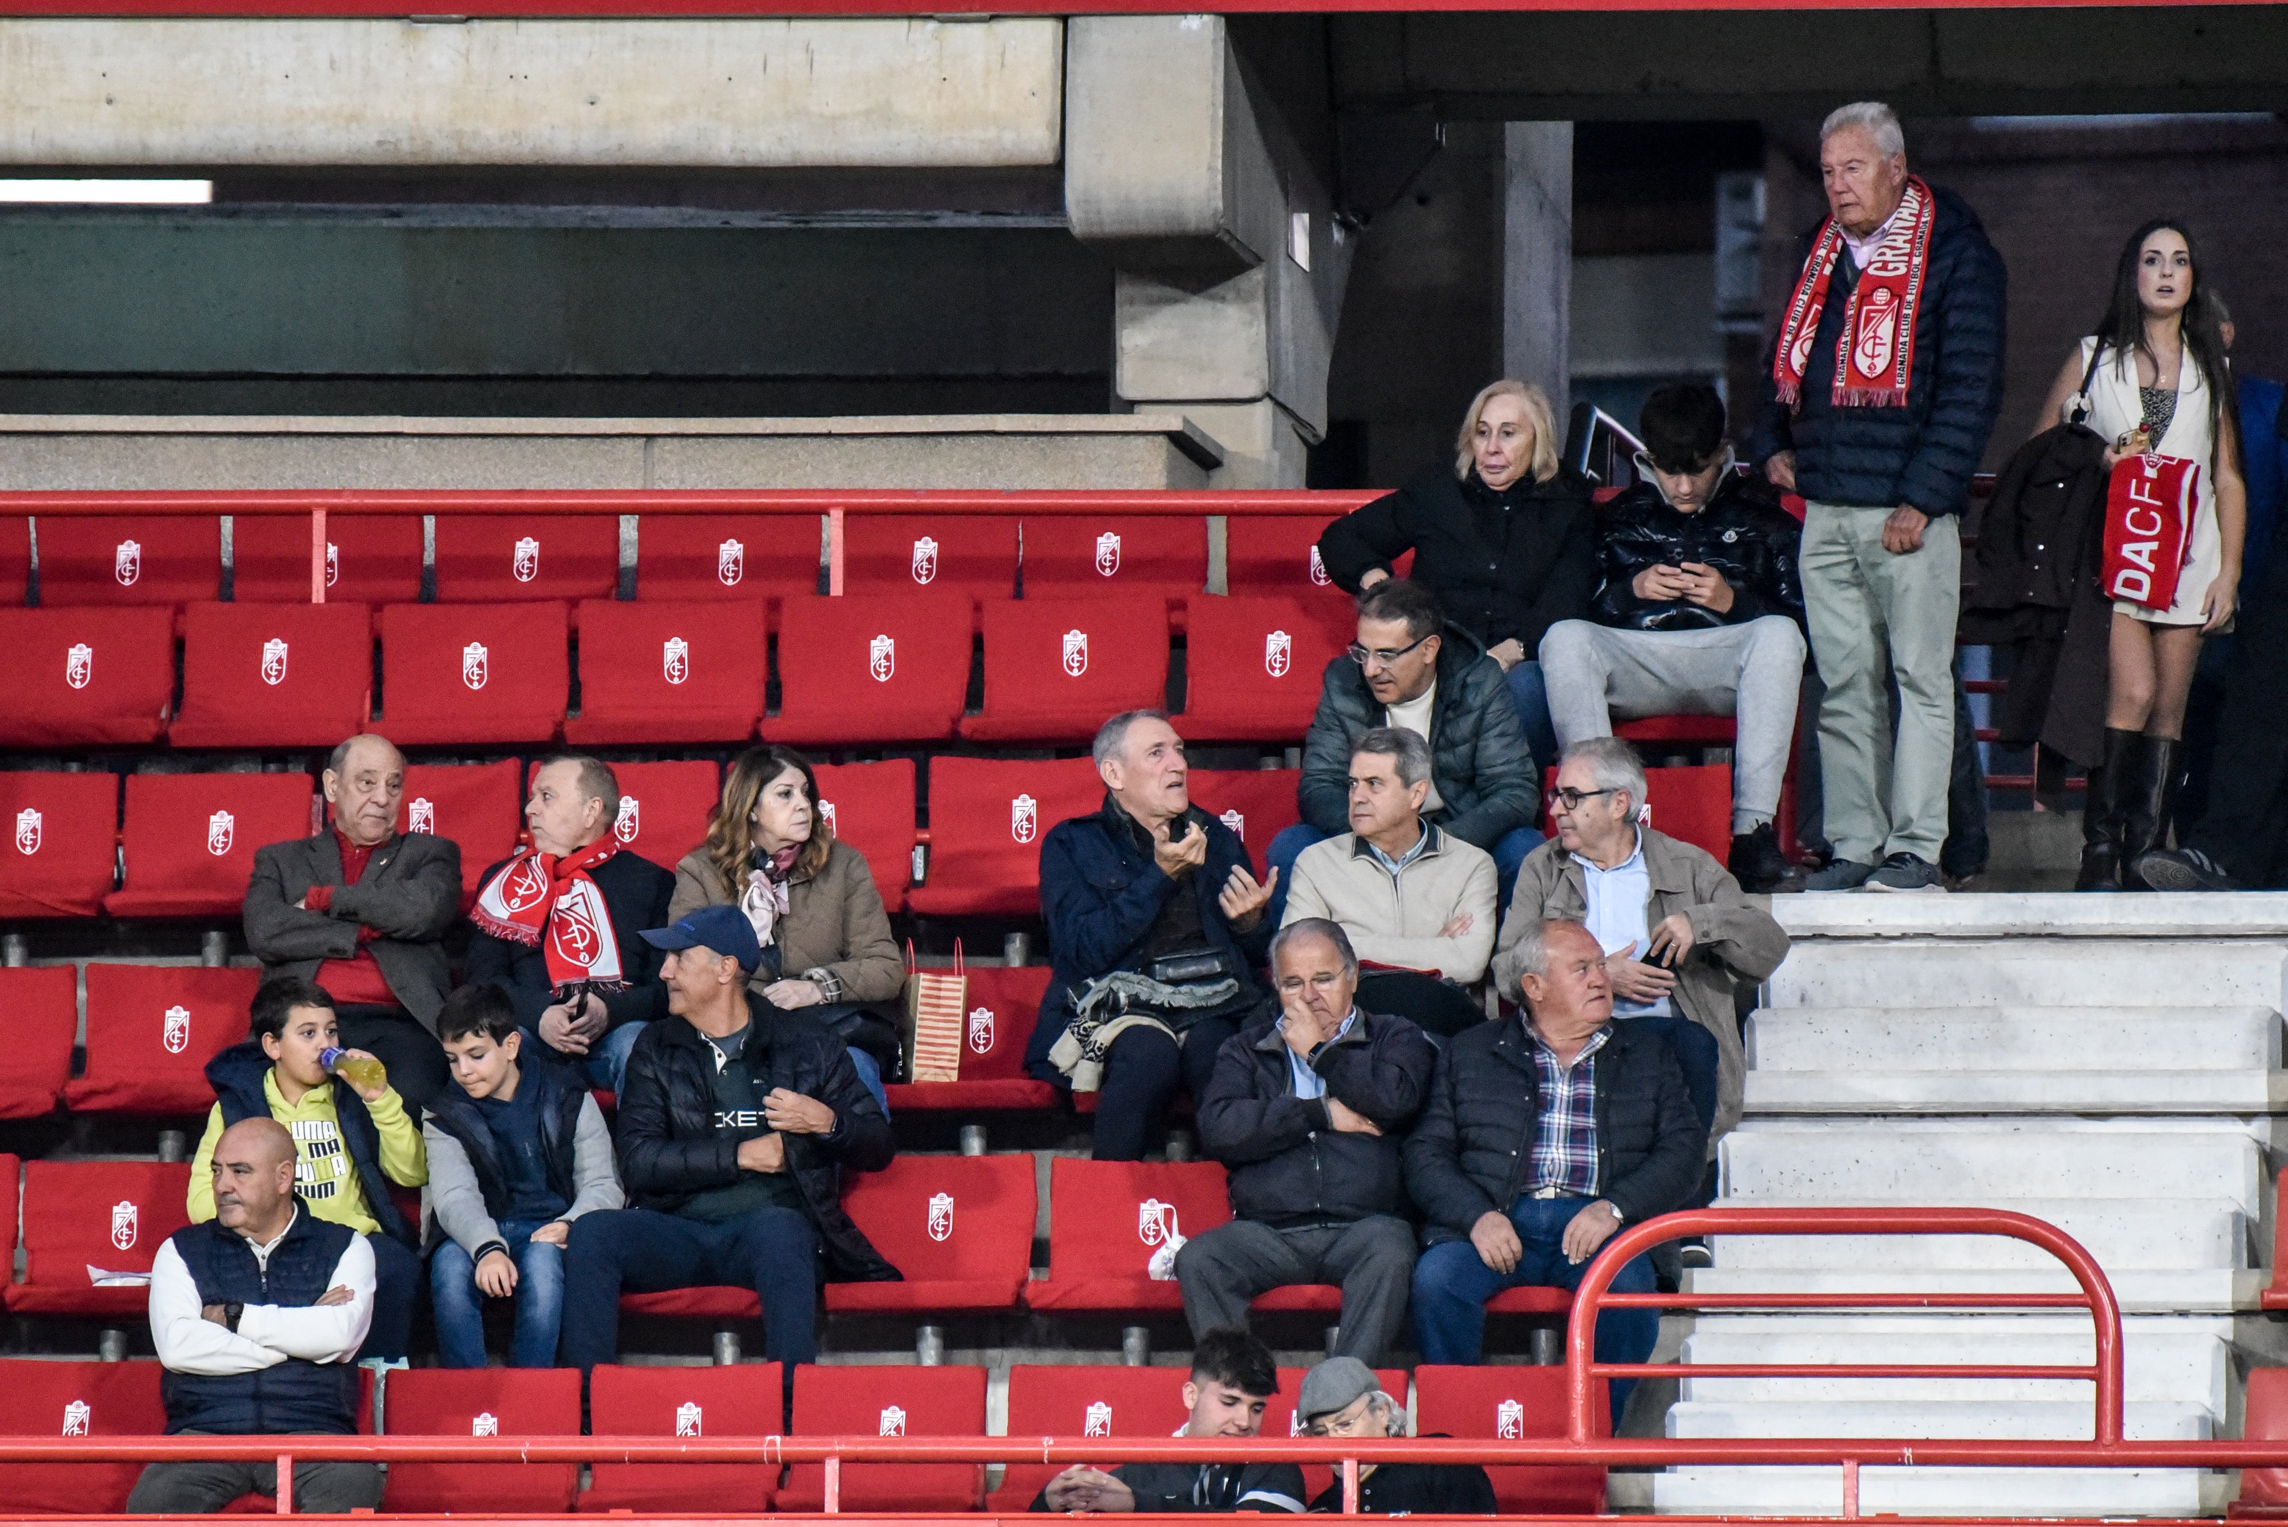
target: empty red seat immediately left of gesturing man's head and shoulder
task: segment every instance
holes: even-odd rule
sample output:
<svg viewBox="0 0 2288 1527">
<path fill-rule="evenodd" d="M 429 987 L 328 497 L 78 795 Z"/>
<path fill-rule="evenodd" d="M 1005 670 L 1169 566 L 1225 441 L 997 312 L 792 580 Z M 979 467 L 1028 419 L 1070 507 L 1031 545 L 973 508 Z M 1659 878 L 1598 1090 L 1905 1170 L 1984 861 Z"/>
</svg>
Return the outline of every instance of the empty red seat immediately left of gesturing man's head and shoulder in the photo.
<svg viewBox="0 0 2288 1527">
<path fill-rule="evenodd" d="M 929 880 L 906 894 L 927 917 L 1032 917 L 1041 837 L 1105 802 L 1089 759 L 929 761 Z"/>
</svg>

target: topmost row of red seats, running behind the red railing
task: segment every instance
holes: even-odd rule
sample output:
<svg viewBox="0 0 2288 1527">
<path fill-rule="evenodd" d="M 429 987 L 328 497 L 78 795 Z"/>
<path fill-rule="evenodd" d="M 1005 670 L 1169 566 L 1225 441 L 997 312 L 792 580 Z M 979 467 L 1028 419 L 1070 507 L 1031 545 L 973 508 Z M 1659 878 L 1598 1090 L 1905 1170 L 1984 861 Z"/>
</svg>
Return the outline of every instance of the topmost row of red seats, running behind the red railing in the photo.
<svg viewBox="0 0 2288 1527">
<path fill-rule="evenodd" d="M 1229 587 L 1329 590 L 1313 544 L 1327 514 L 1233 517 Z M 327 514 L 327 599 L 400 603 L 421 597 L 421 514 Z M 437 597 L 611 599 L 620 583 L 618 514 L 439 514 Z M 956 590 L 1151 592 L 1183 599 L 1208 578 L 1206 519 L 1096 514 L 849 514 L 849 592 Z M 23 603 L 30 521 L 0 519 L 0 599 Z M 233 597 L 309 597 L 311 535 L 302 514 L 231 521 Z M 815 594 L 821 517 L 645 514 L 636 528 L 643 599 L 776 599 Z M 62 603 L 199 603 L 222 587 L 217 517 L 103 514 L 39 519 L 39 599 Z M 9 592 L 11 590 L 11 592 Z"/>
</svg>

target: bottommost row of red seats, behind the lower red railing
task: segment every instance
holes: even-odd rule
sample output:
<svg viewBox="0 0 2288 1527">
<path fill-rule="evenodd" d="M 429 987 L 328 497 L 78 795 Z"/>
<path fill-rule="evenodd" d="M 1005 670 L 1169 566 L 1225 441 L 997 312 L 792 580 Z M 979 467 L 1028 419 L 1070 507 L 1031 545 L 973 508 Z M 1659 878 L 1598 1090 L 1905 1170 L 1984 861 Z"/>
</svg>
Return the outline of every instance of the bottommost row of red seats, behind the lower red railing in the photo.
<svg viewBox="0 0 2288 1527">
<path fill-rule="evenodd" d="M 1304 1369 L 1279 1369 L 1265 1436 L 1293 1436 Z M 1014 1365 L 1011 1438 L 1158 1438 L 1183 1424 L 1181 1367 Z M 1405 1401 L 1407 1374 L 1382 1372 Z M 1554 1438 L 1565 1433 L 1560 1367 L 1419 1367 L 1419 1431 L 1457 1438 Z M 595 1436 L 750 1438 L 778 1431 L 776 1362 L 732 1367 L 597 1367 L 590 1388 Z M 0 1360 L 0 1436 L 137 1438 L 165 1426 L 156 1362 Z M 579 1436 L 574 1369 L 403 1369 L 382 1385 L 387 1436 L 570 1438 Z M 371 1429 L 371 1426 L 368 1426 Z M 986 1431 L 986 1369 L 906 1365 L 803 1365 L 794 1369 L 794 1436 L 977 1438 Z M 1503 1513 L 1597 1513 L 1604 1472 L 1492 1468 Z M 0 1465 L 0 1497 L 18 1513 L 117 1513 L 135 1486 L 135 1463 Z M 572 1463 L 394 1463 L 382 1511 L 821 1511 L 819 1463 L 796 1463 L 780 1484 L 771 1463 L 595 1463 L 588 1490 Z M 1057 1465 L 1009 1463 L 986 1495 L 977 1463 L 844 1463 L 842 1511 L 1025 1511 Z M 1332 1468 L 1306 1465 L 1318 1495 Z"/>
</svg>

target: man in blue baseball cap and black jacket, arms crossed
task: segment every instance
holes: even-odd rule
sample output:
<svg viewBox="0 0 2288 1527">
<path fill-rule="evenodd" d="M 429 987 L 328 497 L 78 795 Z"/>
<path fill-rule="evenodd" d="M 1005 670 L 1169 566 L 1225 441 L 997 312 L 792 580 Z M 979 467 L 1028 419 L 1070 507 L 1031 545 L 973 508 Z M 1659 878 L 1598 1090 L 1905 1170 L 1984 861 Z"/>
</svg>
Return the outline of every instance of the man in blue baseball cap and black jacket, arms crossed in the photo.
<svg viewBox="0 0 2288 1527">
<path fill-rule="evenodd" d="M 842 1040 L 748 992 L 762 946 L 732 905 L 643 940 L 666 951 L 668 1022 L 627 1056 L 620 1177 L 629 1209 L 583 1214 L 565 1246 L 563 1360 L 620 1344 L 620 1289 L 744 1285 L 762 1298 L 764 1356 L 817 1358 L 819 1282 L 888 1282 L 842 1212 L 842 1168 L 881 1170 L 890 1120 Z"/>
</svg>

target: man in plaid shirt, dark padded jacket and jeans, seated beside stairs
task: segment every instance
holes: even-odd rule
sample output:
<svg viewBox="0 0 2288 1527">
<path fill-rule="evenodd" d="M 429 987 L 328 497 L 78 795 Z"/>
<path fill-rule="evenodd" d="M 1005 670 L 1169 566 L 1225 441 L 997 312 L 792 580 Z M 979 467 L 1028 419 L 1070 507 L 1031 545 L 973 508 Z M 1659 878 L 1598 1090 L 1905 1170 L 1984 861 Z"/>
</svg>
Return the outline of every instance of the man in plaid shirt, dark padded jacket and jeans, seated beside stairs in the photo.
<svg viewBox="0 0 2288 1527">
<path fill-rule="evenodd" d="M 1613 1022 L 1604 949 L 1581 924 L 1544 921 L 1510 946 L 1524 1010 L 1453 1040 L 1407 1136 L 1407 1193 L 1430 1250 L 1414 1266 L 1423 1362 L 1476 1362 L 1485 1301 L 1501 1289 L 1574 1289 L 1624 1223 L 1668 1214 L 1700 1186 L 1707 1129 L 1668 1042 Z M 1542 1129 L 1556 1116 L 1554 1129 Z M 1615 1294 L 1650 1294 L 1634 1257 Z M 1652 1310 L 1597 1317 L 1599 1362 L 1643 1362 Z M 1629 1383 L 1613 1383 L 1613 1417 Z"/>
</svg>

